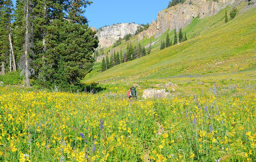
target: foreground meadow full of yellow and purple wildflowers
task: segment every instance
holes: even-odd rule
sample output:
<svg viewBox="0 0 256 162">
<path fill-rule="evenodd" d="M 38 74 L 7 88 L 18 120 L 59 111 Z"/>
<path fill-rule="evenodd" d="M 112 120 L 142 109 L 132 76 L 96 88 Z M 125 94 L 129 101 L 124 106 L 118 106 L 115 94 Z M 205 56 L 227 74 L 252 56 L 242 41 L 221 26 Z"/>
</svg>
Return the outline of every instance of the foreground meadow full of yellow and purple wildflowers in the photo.
<svg viewBox="0 0 256 162">
<path fill-rule="evenodd" d="M 252 82 L 181 83 L 182 94 L 145 100 L 129 100 L 126 85 L 101 86 L 97 93 L 0 87 L 0 161 L 256 160 Z"/>
</svg>

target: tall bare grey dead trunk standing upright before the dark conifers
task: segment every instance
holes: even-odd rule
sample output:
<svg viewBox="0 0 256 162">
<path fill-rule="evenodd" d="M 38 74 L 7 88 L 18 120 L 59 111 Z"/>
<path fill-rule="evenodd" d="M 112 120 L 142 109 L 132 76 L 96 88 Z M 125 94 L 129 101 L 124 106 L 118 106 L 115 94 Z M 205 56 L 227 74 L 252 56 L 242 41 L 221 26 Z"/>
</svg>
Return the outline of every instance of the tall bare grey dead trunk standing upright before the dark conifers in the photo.
<svg viewBox="0 0 256 162">
<path fill-rule="evenodd" d="M 29 22 L 28 22 L 28 0 L 25 0 L 25 27 L 26 27 L 26 33 L 25 33 L 25 76 L 26 76 L 26 84 L 27 87 L 30 87 L 30 72 L 29 72 L 29 65 L 28 65 L 28 51 L 29 51 Z"/>
</svg>

